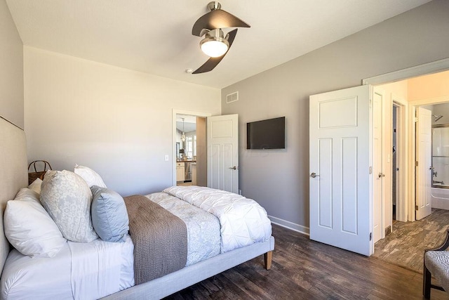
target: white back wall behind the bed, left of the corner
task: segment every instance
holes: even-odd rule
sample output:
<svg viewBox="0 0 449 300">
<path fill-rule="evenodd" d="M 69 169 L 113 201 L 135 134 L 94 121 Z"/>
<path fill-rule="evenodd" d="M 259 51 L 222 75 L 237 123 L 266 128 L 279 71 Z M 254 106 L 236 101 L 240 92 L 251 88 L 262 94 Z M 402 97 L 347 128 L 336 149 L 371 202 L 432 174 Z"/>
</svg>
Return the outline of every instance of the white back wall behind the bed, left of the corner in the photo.
<svg viewBox="0 0 449 300">
<path fill-rule="evenodd" d="M 92 167 L 121 195 L 172 185 L 173 109 L 220 115 L 219 89 L 28 46 L 24 58 L 28 160 Z"/>
</svg>

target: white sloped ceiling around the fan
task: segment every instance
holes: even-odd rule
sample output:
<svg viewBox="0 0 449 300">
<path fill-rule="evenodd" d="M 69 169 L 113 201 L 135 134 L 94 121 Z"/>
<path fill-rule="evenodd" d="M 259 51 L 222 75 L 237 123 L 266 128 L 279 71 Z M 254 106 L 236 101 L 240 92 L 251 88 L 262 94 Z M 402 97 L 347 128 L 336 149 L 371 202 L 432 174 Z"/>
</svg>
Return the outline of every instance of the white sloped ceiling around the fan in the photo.
<svg viewBox="0 0 449 300">
<path fill-rule="evenodd" d="M 223 0 L 251 25 L 211 72 L 192 25 L 208 0 L 6 0 L 23 44 L 223 88 L 430 0 Z M 225 30 L 227 32 L 229 30 Z"/>
</svg>

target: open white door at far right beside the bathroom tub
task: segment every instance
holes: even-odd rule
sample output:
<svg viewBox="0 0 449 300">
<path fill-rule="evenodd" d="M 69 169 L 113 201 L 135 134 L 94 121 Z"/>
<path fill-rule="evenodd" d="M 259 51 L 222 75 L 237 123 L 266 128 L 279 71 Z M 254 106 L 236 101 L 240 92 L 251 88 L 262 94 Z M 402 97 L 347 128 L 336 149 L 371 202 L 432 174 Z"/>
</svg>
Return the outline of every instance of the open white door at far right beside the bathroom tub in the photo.
<svg viewBox="0 0 449 300">
<path fill-rule="evenodd" d="M 416 219 L 420 220 L 431 214 L 431 134 L 432 112 L 417 107 L 416 124 Z"/>
</svg>

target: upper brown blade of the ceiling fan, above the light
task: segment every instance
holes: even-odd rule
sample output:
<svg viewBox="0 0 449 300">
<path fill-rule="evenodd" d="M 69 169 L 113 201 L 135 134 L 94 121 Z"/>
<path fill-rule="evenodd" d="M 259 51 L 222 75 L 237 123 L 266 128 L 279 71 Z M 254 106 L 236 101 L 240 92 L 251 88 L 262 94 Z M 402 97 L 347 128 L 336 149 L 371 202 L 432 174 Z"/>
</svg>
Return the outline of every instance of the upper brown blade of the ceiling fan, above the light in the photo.
<svg viewBox="0 0 449 300">
<path fill-rule="evenodd" d="M 201 37 L 201 31 L 203 29 L 215 30 L 217 28 L 228 27 L 250 27 L 250 25 L 227 11 L 216 9 L 196 20 L 194 27 L 192 28 L 192 34 Z"/>
</svg>

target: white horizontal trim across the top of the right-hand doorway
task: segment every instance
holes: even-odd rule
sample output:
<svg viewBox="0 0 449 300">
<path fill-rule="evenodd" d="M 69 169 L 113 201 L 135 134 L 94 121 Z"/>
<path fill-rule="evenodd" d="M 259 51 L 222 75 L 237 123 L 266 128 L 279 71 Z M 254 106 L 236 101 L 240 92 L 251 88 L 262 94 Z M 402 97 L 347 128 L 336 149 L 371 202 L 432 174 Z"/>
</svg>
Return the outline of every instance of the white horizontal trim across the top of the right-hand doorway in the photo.
<svg viewBox="0 0 449 300">
<path fill-rule="evenodd" d="M 362 84 L 387 84 L 393 81 L 409 79 L 412 77 L 421 76 L 424 74 L 432 74 L 449 70 L 449 58 L 436 60 L 431 63 L 424 63 L 424 65 L 417 65 L 415 67 L 408 67 L 407 69 L 389 72 L 386 74 L 369 77 L 362 80 Z"/>
</svg>

